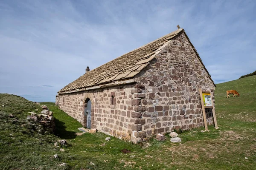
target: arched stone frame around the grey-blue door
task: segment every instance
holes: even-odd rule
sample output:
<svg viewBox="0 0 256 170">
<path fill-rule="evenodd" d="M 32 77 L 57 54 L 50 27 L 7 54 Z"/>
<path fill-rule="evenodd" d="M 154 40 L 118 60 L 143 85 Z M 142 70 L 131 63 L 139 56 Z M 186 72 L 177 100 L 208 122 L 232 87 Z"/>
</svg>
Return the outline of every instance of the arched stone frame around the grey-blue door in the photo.
<svg viewBox="0 0 256 170">
<path fill-rule="evenodd" d="M 91 101 L 91 129 L 96 128 L 96 125 L 94 125 L 94 100 L 92 94 L 85 94 L 83 98 L 83 109 L 82 109 L 82 122 L 81 124 L 83 127 L 86 127 L 87 124 L 87 115 L 84 115 L 85 108 L 87 107 L 88 100 Z"/>
</svg>

